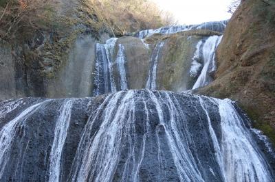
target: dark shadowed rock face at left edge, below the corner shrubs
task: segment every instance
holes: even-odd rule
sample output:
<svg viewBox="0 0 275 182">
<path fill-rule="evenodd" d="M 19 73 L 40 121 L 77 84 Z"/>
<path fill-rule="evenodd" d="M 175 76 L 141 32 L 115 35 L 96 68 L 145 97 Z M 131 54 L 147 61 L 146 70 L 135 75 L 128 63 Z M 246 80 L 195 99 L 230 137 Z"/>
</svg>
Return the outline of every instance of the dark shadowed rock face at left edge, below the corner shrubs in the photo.
<svg viewBox="0 0 275 182">
<path fill-rule="evenodd" d="M 43 35 L 36 34 L 21 45 L 14 46 L 10 42 L 1 42 L 0 62 L 3 64 L 0 75 L 3 85 L 0 86 L 0 99 L 45 96 L 45 79 L 39 57 L 39 48 L 43 41 Z"/>
</svg>

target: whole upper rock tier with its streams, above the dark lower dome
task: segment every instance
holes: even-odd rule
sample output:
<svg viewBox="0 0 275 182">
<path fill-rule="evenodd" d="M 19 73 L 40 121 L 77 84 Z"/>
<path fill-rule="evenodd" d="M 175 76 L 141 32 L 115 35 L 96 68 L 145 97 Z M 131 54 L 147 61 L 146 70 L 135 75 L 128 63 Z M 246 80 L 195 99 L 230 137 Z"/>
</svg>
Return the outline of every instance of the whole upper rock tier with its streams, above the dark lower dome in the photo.
<svg viewBox="0 0 275 182">
<path fill-rule="evenodd" d="M 94 96 L 126 89 L 182 92 L 206 86 L 213 80 L 221 38 L 201 31 L 148 43 L 125 36 L 96 44 Z"/>
</svg>

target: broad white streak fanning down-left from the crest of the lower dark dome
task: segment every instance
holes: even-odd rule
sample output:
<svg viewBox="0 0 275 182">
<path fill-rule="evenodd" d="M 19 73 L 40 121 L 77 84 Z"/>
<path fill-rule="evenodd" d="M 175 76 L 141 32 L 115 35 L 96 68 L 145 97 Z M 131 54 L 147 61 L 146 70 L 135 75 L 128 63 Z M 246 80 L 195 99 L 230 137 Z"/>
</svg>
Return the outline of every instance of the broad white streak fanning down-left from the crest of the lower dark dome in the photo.
<svg viewBox="0 0 275 182">
<path fill-rule="evenodd" d="M 113 178 L 118 159 L 122 150 L 122 137 L 127 135 L 133 119 L 133 91 L 129 91 L 123 96 L 123 92 L 118 92 L 105 99 L 100 105 L 93 120 L 89 121 L 83 137 L 78 146 L 78 154 L 81 159 L 76 160 L 76 170 L 72 181 L 111 181 Z M 123 96 L 123 98 L 122 98 Z M 120 99 L 122 99 L 120 101 Z M 117 105 L 120 101 L 120 105 Z M 100 109 L 106 105 L 102 113 L 102 123 L 96 134 L 90 138 L 89 131 L 93 129 L 95 122 L 98 122 Z M 130 109 L 130 110 L 129 110 Z M 129 114 L 127 120 L 126 115 Z M 128 130 L 127 130 L 128 128 Z M 88 143 L 85 143 L 85 140 Z M 84 151 L 82 151 L 85 148 Z M 78 162 L 78 160 L 80 162 Z M 78 171 L 79 168 L 79 171 Z M 89 179 L 89 176 L 92 179 Z"/>
</svg>

